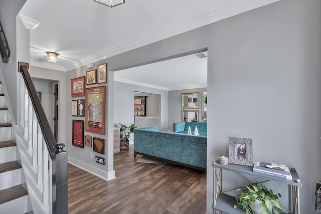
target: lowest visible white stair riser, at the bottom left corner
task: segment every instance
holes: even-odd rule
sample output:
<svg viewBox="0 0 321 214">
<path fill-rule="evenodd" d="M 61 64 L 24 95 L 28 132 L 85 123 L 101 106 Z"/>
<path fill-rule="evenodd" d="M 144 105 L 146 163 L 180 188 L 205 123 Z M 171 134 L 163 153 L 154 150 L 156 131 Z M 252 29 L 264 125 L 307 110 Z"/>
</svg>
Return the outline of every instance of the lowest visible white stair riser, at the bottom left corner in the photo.
<svg viewBox="0 0 321 214">
<path fill-rule="evenodd" d="M 0 213 L 17 214 L 26 213 L 28 207 L 28 195 L 16 198 L 6 203 L 0 204 Z"/>
</svg>

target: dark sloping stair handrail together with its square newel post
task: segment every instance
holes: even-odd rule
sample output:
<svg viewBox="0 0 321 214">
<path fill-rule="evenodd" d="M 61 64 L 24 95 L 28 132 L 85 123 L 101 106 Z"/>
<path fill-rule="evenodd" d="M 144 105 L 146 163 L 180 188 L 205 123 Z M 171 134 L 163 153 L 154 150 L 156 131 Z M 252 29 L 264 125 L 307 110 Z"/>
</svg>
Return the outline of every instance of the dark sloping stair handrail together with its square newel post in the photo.
<svg viewBox="0 0 321 214">
<path fill-rule="evenodd" d="M 28 64 L 19 63 L 19 72 L 22 73 L 24 78 L 52 160 L 52 213 L 68 213 L 67 152 L 63 150 L 65 144 L 57 144 L 55 140 L 47 116 L 37 94 L 34 82 L 30 76 L 29 69 L 26 65 Z"/>
</svg>

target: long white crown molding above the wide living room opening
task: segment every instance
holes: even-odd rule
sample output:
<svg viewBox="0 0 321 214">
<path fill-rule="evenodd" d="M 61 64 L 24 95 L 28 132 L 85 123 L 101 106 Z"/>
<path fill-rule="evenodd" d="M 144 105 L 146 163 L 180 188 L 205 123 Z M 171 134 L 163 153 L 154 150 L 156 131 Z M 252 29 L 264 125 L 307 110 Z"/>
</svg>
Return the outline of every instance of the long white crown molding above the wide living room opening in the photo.
<svg viewBox="0 0 321 214">
<path fill-rule="evenodd" d="M 219 8 L 211 9 L 206 13 L 200 14 L 198 16 L 192 17 L 185 21 L 174 23 L 173 25 L 167 26 L 165 28 L 159 29 L 152 33 L 146 34 L 142 37 L 133 39 L 119 46 L 107 49 L 100 53 L 91 55 L 89 57 L 83 58 L 77 62 L 65 66 L 65 71 L 70 71 L 82 66 L 87 65 L 89 62 L 97 62 L 100 60 L 107 59 L 109 57 L 157 42 L 161 41 L 187 31 L 191 31 L 239 14 L 251 11 L 256 8 L 260 8 L 280 0 L 248 0 L 248 1 L 232 1 L 228 4 L 222 5 Z"/>
</svg>

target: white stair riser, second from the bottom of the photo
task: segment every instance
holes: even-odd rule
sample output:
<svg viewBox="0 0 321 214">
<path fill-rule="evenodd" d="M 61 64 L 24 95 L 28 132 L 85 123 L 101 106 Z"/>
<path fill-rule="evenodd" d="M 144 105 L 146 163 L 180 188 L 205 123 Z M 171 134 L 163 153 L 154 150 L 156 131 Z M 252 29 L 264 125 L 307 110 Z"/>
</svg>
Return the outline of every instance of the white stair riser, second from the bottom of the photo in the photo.
<svg viewBox="0 0 321 214">
<path fill-rule="evenodd" d="M 21 184 L 21 168 L 0 173 L 0 180 L 0 190 Z"/>
</svg>

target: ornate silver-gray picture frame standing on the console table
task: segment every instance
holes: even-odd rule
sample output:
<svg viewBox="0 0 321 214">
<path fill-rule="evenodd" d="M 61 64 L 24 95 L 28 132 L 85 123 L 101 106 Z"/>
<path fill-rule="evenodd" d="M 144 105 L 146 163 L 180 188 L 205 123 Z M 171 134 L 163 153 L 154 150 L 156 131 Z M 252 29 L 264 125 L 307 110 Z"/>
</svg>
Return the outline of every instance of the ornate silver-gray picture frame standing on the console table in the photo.
<svg viewBox="0 0 321 214">
<path fill-rule="evenodd" d="M 253 166 L 252 138 L 229 137 L 229 163 Z"/>
</svg>

